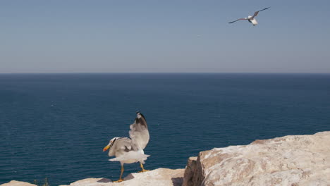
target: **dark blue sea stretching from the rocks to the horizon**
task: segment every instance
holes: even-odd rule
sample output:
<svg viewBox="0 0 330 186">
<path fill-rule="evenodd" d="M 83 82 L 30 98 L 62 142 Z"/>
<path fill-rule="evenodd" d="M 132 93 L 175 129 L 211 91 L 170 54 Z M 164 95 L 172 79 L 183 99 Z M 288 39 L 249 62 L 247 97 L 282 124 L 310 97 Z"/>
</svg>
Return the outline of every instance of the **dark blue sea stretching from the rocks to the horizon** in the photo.
<svg viewBox="0 0 330 186">
<path fill-rule="evenodd" d="M 330 130 L 330 75 L 0 75 L 0 184 L 118 179 L 102 148 L 128 136 L 137 110 L 150 132 L 145 168 L 184 168 L 213 147 Z"/>
</svg>

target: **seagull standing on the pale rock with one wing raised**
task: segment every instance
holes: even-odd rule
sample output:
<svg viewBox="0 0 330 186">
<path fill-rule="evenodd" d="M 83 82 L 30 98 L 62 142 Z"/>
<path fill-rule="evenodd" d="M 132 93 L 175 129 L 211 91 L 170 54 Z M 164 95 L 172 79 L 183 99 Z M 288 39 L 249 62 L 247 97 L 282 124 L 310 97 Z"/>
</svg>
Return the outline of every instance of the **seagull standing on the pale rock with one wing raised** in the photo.
<svg viewBox="0 0 330 186">
<path fill-rule="evenodd" d="M 123 175 L 124 163 L 136 163 L 140 162 L 141 172 L 146 172 L 143 167 L 143 163 L 149 155 L 146 155 L 143 149 L 149 142 L 149 130 L 147 127 L 147 121 L 145 116 L 136 112 L 137 117 L 132 125 L 130 125 L 130 138 L 128 137 L 114 137 L 110 140 L 109 144 L 104 147 L 103 151 L 109 149 L 109 156 L 116 156 L 114 159 L 109 161 L 120 161 L 121 162 L 121 176 Z M 122 182 L 121 176 L 119 180 L 115 182 Z"/>
</svg>

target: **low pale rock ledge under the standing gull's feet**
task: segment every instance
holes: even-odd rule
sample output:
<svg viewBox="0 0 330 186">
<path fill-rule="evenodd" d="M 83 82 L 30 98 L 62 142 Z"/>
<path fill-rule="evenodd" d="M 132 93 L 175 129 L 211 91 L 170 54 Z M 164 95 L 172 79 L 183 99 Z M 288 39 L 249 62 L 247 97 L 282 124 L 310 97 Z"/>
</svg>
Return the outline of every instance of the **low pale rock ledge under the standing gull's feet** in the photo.
<svg viewBox="0 0 330 186">
<path fill-rule="evenodd" d="M 123 182 L 111 182 L 106 178 L 87 178 L 70 184 L 70 186 L 124 186 L 124 185 L 152 185 L 152 186 L 178 186 L 182 185 L 184 169 L 172 170 L 169 168 L 157 168 L 145 173 L 131 173 Z M 68 186 L 68 185 L 60 185 Z"/>
</svg>

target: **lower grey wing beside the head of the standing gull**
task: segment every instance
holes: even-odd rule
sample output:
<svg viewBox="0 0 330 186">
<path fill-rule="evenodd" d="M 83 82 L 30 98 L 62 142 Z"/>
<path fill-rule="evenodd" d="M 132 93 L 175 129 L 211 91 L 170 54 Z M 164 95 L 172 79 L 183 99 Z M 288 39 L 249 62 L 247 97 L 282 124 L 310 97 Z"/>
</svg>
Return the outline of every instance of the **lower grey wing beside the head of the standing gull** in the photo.
<svg viewBox="0 0 330 186">
<path fill-rule="evenodd" d="M 128 151 L 137 151 L 138 148 L 132 143 L 128 137 L 121 137 L 114 141 L 111 149 L 109 150 L 109 156 L 120 156 Z"/>
</svg>

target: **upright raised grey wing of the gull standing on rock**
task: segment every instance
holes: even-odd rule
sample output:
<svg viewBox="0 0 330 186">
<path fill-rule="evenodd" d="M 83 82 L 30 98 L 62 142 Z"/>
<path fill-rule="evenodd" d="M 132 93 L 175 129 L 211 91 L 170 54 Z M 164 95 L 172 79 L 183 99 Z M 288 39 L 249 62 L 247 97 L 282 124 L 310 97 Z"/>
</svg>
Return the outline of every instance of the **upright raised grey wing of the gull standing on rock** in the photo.
<svg viewBox="0 0 330 186">
<path fill-rule="evenodd" d="M 130 139 L 138 149 L 145 149 L 149 142 L 149 130 L 147 126 L 147 121 L 142 113 L 138 113 L 138 117 L 130 125 Z"/>
</svg>

